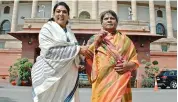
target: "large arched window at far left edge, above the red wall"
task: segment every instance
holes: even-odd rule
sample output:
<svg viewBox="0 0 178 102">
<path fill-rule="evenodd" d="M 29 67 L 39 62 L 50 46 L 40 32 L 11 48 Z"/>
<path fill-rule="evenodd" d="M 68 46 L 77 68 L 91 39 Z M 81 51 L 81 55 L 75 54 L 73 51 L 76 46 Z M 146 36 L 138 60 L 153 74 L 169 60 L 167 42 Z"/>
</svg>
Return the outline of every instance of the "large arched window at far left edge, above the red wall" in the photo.
<svg viewBox="0 0 178 102">
<path fill-rule="evenodd" d="M 10 21 L 4 20 L 0 26 L 0 34 L 7 34 L 10 32 Z"/>
</svg>

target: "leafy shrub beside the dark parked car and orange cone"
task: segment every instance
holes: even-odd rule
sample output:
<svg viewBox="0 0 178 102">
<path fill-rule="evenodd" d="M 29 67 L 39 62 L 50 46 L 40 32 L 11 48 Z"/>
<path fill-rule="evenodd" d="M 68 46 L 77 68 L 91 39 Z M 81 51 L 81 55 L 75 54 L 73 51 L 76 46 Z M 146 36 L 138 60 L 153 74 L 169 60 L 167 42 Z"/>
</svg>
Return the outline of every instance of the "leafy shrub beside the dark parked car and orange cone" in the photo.
<svg viewBox="0 0 178 102">
<path fill-rule="evenodd" d="M 159 72 L 158 61 L 147 62 L 142 61 L 145 65 L 145 75 L 143 75 L 142 87 L 153 87 L 154 77 Z"/>
</svg>

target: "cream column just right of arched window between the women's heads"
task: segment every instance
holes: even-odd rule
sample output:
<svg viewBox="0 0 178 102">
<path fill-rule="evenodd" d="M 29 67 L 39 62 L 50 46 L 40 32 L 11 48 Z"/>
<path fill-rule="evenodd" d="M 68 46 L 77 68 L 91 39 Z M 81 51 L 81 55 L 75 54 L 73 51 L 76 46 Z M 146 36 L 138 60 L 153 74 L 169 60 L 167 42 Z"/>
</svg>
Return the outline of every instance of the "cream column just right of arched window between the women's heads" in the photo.
<svg viewBox="0 0 178 102">
<path fill-rule="evenodd" d="M 98 0 L 92 0 L 92 19 L 98 18 Z"/>
</svg>

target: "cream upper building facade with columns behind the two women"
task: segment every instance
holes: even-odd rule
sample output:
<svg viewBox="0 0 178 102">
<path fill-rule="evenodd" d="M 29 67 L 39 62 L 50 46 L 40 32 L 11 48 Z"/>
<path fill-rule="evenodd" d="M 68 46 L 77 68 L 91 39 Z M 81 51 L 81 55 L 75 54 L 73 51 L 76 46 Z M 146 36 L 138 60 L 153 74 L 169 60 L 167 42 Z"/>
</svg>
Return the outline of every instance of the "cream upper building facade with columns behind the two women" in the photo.
<svg viewBox="0 0 178 102">
<path fill-rule="evenodd" d="M 52 7 L 56 2 L 58 1 L 1 1 L 1 34 L 22 30 L 25 18 L 50 18 Z M 146 21 L 151 33 L 177 38 L 177 1 L 74 0 L 66 3 L 71 7 L 71 19 L 98 19 L 101 12 L 112 9 L 118 14 L 120 21 Z"/>
</svg>

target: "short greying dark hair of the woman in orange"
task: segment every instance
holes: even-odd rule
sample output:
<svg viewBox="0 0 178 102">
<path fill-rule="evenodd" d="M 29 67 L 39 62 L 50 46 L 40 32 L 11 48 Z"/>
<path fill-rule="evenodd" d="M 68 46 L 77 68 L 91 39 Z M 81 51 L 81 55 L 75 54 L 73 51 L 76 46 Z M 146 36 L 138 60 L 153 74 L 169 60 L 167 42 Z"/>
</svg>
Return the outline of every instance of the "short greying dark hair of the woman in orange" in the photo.
<svg viewBox="0 0 178 102">
<path fill-rule="evenodd" d="M 103 18 L 106 14 L 111 14 L 113 17 L 115 17 L 117 23 L 118 23 L 118 18 L 117 18 L 117 14 L 113 11 L 113 10 L 107 10 L 107 11 L 104 11 L 101 13 L 101 16 L 100 16 L 100 22 L 101 24 L 103 23 Z"/>
</svg>

